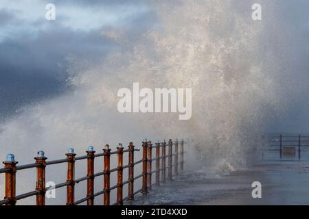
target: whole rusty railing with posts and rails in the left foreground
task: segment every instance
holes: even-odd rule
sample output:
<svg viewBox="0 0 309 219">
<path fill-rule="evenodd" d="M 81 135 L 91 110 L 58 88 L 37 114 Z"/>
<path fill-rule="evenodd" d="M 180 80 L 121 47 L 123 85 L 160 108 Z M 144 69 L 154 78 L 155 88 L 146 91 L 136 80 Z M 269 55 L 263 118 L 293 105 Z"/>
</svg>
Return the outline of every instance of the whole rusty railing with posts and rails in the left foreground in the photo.
<svg viewBox="0 0 309 219">
<path fill-rule="evenodd" d="M 128 145 L 128 149 L 124 149 L 122 144 L 119 144 L 117 151 L 111 151 L 108 144 L 103 149 L 103 153 L 95 153 L 93 146 L 89 146 L 87 155 L 77 157 L 74 153 L 74 149 L 69 149 L 65 154 L 65 159 L 58 159 L 54 161 L 47 161 L 44 151 L 38 151 L 38 155 L 34 157 L 34 164 L 27 164 L 17 166 L 18 162 L 15 161 L 15 157 L 12 154 L 8 154 L 4 164 L 4 168 L 0 169 L 0 174 L 5 174 L 5 196 L 0 205 L 16 205 L 16 202 L 36 196 L 36 205 L 45 205 L 45 194 L 48 190 L 67 188 L 67 205 L 79 205 L 81 203 L 87 203 L 87 205 L 94 205 L 94 199 L 97 196 L 103 195 L 103 205 L 111 205 L 110 193 L 112 190 L 117 191 L 117 201 L 113 205 L 123 205 L 124 201 L 133 201 L 135 195 L 148 194 L 152 189 L 152 186 L 159 186 L 160 183 L 166 181 L 166 170 L 168 170 L 168 179 L 172 180 L 172 168 L 174 168 L 174 176 L 179 174 L 178 168 L 183 170 L 184 164 L 184 144 L 176 140 L 172 142 L 157 142 L 155 145 L 152 142 L 144 140 L 142 142 L 142 159 L 135 161 L 135 152 L 140 149 L 135 149 L 134 144 L 131 142 Z M 166 148 L 168 147 L 168 155 L 166 155 Z M 180 147 L 180 152 L 179 152 Z M 155 158 L 152 156 L 152 149 L 155 149 Z M 174 153 L 173 153 L 174 149 Z M 124 154 L 128 154 L 128 164 L 124 165 Z M 111 156 L 117 155 L 117 166 L 111 169 Z M 103 157 L 103 170 L 102 172 L 94 172 L 94 160 L 95 158 Z M 179 162 L 180 157 L 180 162 Z M 168 158 L 168 165 L 166 165 L 166 158 Z M 75 179 L 75 164 L 77 161 L 87 160 L 87 176 L 80 179 Z M 67 180 L 64 183 L 59 183 L 53 187 L 45 186 L 45 172 L 47 166 L 54 164 L 67 164 Z M 135 177 L 135 166 L 142 164 L 142 172 Z M 152 164 L 155 164 L 155 170 L 152 170 Z M 32 192 L 27 192 L 16 196 L 16 172 L 19 170 L 36 169 L 36 188 Z M 128 170 L 128 180 L 124 181 L 124 170 Z M 111 173 L 117 173 L 117 184 L 111 186 Z M 155 183 L 152 183 L 152 175 L 155 176 Z M 95 178 L 103 176 L 103 185 L 100 192 L 94 193 Z M 134 190 L 134 182 L 137 179 L 142 179 L 142 187 L 139 190 Z M 75 200 L 75 186 L 76 183 L 87 181 L 87 196 Z M 128 185 L 128 195 L 124 197 L 123 187 Z"/>
</svg>

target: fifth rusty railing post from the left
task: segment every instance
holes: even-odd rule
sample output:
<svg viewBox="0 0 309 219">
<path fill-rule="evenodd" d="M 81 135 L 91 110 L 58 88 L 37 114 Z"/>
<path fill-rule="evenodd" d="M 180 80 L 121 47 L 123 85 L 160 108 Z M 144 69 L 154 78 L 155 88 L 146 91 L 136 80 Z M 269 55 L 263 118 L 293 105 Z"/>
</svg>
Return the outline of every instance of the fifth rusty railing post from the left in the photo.
<svg viewBox="0 0 309 219">
<path fill-rule="evenodd" d="M 110 194 L 111 194 L 111 149 L 109 145 L 106 144 L 103 149 L 104 153 L 104 196 L 103 203 L 104 205 L 110 205 Z"/>
</svg>

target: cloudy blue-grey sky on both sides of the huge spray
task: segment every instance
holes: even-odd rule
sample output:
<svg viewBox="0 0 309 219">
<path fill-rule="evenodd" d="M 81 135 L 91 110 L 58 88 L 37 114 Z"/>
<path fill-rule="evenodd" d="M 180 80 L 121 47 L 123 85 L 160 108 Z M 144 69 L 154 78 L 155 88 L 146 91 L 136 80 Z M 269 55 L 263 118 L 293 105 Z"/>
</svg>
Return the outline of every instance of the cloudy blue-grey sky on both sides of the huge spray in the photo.
<svg viewBox="0 0 309 219">
<path fill-rule="evenodd" d="M 56 21 L 45 19 L 47 3 L 56 5 Z M 285 94 L 291 107 L 284 118 L 274 116 L 268 130 L 309 130 L 309 1 L 275 5 L 279 21 L 264 46 L 273 46 L 277 34 L 285 35 L 288 43 L 277 53 L 288 60 L 283 75 L 295 89 L 303 88 Z M 74 62 L 87 68 L 111 51 L 128 49 L 111 40 L 113 31 L 122 29 L 134 41 L 156 22 L 148 1 L 0 0 L 0 121 L 70 90 L 66 79 Z"/>
</svg>

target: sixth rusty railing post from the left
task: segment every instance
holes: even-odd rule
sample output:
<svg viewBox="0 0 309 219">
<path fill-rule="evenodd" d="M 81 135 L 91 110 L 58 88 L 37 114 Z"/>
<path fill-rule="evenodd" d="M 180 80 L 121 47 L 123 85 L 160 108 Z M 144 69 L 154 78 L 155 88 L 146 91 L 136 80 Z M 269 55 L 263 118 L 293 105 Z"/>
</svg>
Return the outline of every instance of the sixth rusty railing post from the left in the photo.
<svg viewBox="0 0 309 219">
<path fill-rule="evenodd" d="M 123 184 L 123 172 L 124 172 L 124 147 L 119 144 L 117 147 L 118 152 L 118 170 L 117 170 L 117 205 L 122 205 L 122 188 Z"/>
</svg>

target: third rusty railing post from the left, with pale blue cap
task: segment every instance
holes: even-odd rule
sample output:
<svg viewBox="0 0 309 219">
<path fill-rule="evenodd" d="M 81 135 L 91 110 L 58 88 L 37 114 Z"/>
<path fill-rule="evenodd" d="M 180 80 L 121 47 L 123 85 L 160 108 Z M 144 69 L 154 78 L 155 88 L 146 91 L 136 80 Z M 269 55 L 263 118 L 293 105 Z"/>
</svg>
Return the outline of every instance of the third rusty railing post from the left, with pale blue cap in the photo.
<svg viewBox="0 0 309 219">
<path fill-rule="evenodd" d="M 67 159 L 69 159 L 69 162 L 67 162 L 67 182 L 69 183 L 69 185 L 67 185 L 67 205 L 74 205 L 76 153 L 74 153 L 74 149 L 69 149 L 65 155 L 67 155 Z"/>
</svg>

